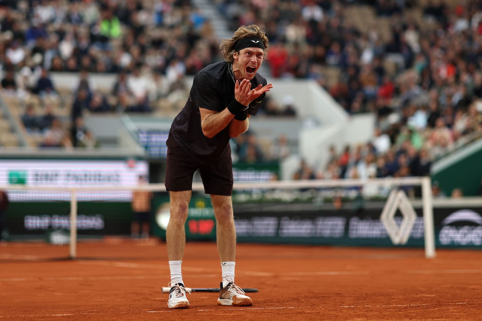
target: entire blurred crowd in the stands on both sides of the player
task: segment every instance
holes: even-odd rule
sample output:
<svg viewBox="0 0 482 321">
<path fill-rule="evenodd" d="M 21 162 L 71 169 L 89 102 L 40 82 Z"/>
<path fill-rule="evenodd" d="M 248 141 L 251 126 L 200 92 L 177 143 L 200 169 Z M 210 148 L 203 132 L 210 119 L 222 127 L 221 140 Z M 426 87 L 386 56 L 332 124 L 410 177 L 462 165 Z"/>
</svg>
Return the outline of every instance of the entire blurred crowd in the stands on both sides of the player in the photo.
<svg viewBox="0 0 482 321">
<path fill-rule="evenodd" d="M 273 77 L 314 79 L 348 113 L 376 114 L 373 141 L 353 148 L 350 158 L 389 162 L 389 152 L 408 159 L 413 149 L 433 160 L 482 129 L 481 0 L 423 7 L 415 0 L 214 2 L 231 29 L 266 27 Z M 375 23 L 388 19 L 389 30 L 363 29 L 348 14 L 354 5 L 368 5 Z M 85 112 L 152 112 L 184 103 L 184 75 L 220 60 L 213 27 L 189 0 L 3 0 L 0 26 L 1 86 L 25 102 L 26 120 L 29 98 L 39 97 L 43 108 L 39 115 L 32 107 L 38 124 L 30 127 L 41 133 L 51 127 L 45 119 L 57 115 L 49 101 L 67 104 L 63 127 L 73 133 Z M 80 73 L 70 99 L 63 100 L 50 71 Z M 109 92 L 90 77 L 97 72 L 117 74 Z M 260 114 L 295 116 L 295 110 L 287 96 L 282 109 L 267 102 Z M 77 146 L 72 135 L 69 141 Z M 355 175 L 336 167 L 341 176 Z"/>
</svg>

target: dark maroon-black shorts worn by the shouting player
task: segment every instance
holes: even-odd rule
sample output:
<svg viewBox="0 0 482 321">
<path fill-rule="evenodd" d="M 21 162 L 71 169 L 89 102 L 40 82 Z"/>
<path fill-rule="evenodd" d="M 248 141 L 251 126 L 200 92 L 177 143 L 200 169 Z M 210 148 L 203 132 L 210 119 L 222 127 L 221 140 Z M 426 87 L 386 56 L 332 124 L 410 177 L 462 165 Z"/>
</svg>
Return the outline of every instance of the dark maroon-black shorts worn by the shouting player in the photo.
<svg viewBox="0 0 482 321">
<path fill-rule="evenodd" d="M 168 191 L 191 191 L 192 177 L 199 168 L 204 193 L 231 196 L 233 193 L 233 163 L 230 148 L 226 148 L 218 159 L 206 165 L 187 154 L 173 136 L 169 136 L 166 144 L 165 185 Z"/>
</svg>

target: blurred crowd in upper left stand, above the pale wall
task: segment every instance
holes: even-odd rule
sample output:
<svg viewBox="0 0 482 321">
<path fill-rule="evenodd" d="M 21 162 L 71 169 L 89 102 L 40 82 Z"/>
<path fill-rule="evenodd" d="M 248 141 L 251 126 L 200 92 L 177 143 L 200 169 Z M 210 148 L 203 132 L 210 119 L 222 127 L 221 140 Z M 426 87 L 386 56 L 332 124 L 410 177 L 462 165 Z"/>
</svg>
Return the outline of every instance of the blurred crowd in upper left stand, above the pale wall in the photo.
<svg viewBox="0 0 482 321">
<path fill-rule="evenodd" d="M 51 71 L 118 73 L 147 65 L 175 80 L 218 56 L 211 25 L 188 0 L 3 0 L 0 5 L 3 69 L 40 62 Z"/>
</svg>

